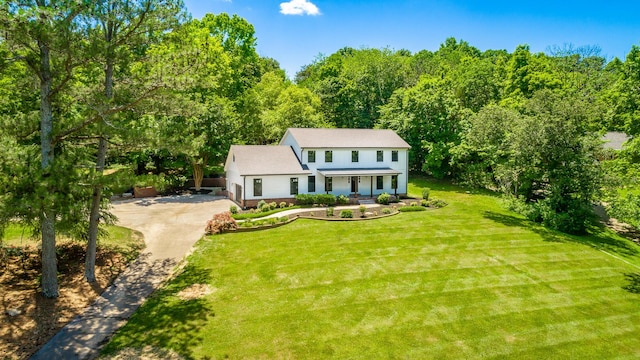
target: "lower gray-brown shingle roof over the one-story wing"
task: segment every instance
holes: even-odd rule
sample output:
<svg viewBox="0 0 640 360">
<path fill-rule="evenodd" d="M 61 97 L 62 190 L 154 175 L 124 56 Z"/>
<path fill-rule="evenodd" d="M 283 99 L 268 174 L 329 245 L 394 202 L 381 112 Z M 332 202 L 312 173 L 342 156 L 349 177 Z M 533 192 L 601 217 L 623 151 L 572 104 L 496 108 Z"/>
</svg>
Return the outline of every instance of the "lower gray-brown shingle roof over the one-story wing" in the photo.
<svg viewBox="0 0 640 360">
<path fill-rule="evenodd" d="M 231 161 L 240 175 L 296 175 L 309 174 L 289 146 L 232 145 Z"/>
</svg>

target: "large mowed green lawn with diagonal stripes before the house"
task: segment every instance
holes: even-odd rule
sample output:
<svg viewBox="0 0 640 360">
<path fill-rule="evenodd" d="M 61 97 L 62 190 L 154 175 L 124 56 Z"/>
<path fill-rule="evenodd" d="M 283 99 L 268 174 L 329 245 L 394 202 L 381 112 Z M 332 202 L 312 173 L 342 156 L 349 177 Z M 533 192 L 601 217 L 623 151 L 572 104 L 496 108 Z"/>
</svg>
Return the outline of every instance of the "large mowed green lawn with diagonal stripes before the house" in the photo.
<svg viewBox="0 0 640 360">
<path fill-rule="evenodd" d="M 410 192 L 423 186 L 449 206 L 204 239 L 104 353 L 151 345 L 196 359 L 640 357 L 639 247 L 598 228 L 589 237 L 546 231 L 490 194 L 446 183 L 414 180 Z M 176 296 L 194 283 L 212 292 Z"/>
</svg>

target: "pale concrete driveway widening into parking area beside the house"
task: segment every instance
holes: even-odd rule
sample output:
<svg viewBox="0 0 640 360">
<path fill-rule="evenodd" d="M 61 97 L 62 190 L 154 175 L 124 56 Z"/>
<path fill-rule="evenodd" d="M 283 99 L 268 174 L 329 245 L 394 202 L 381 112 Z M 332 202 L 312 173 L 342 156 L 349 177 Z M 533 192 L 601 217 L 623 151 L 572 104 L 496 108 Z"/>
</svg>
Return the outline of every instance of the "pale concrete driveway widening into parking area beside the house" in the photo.
<svg viewBox="0 0 640 360">
<path fill-rule="evenodd" d="M 114 204 L 118 225 L 144 235 L 146 249 L 84 313 L 31 359 L 89 359 L 122 327 L 204 235 L 213 214 L 233 203 L 208 195 L 134 199 Z"/>
</svg>

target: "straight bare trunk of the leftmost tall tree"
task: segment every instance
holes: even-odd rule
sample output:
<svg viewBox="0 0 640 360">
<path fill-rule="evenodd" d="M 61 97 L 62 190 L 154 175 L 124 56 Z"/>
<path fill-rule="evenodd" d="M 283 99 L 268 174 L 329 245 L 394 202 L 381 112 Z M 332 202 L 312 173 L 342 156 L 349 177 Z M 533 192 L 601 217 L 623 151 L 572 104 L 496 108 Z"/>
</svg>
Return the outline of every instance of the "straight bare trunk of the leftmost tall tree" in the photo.
<svg viewBox="0 0 640 360">
<path fill-rule="evenodd" d="M 53 160 L 53 113 L 51 106 L 51 64 L 49 47 L 38 41 L 40 50 L 40 155 L 45 182 Z M 44 184 L 43 184 L 44 185 Z M 42 231 L 42 294 L 48 298 L 58 297 L 58 264 L 56 260 L 55 211 L 53 204 L 43 199 L 40 226 Z"/>
</svg>

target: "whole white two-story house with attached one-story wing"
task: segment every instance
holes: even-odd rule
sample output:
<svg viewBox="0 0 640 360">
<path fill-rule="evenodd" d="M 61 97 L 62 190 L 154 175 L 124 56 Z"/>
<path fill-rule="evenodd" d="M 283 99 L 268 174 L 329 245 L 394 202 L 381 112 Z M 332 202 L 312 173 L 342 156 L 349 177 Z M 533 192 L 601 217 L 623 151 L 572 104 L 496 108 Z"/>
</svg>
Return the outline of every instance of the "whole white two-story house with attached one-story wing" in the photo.
<svg viewBox="0 0 640 360">
<path fill-rule="evenodd" d="M 290 128 L 279 145 L 232 145 L 227 190 L 242 207 L 297 194 L 404 195 L 409 149 L 392 130 Z"/>
</svg>

